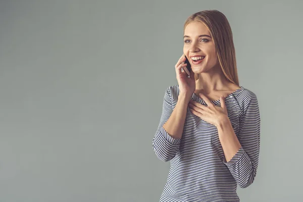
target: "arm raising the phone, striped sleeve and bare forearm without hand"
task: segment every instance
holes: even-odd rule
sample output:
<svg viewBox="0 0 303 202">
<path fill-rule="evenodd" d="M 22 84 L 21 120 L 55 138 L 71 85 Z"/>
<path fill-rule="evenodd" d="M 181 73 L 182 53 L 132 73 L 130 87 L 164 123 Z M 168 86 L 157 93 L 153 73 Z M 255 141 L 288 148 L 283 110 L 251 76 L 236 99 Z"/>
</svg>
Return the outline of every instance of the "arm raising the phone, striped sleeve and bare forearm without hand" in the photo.
<svg viewBox="0 0 303 202">
<path fill-rule="evenodd" d="M 160 124 L 153 138 L 154 151 L 162 161 L 173 159 L 179 149 L 189 99 L 189 96 L 180 93 L 173 109 L 169 88 L 165 92 Z"/>
</svg>

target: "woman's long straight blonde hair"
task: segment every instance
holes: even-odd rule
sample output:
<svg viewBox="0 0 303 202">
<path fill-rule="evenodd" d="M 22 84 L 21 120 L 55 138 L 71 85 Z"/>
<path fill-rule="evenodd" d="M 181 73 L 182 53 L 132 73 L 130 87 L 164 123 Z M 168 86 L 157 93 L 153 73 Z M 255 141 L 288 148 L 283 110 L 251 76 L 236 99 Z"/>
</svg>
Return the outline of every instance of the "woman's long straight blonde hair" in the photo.
<svg viewBox="0 0 303 202">
<path fill-rule="evenodd" d="M 201 22 L 209 29 L 215 43 L 217 58 L 225 77 L 239 85 L 235 47 L 231 27 L 225 15 L 217 10 L 205 10 L 190 15 L 185 23 L 185 27 L 191 22 Z M 194 75 L 195 80 L 198 75 Z"/>
</svg>

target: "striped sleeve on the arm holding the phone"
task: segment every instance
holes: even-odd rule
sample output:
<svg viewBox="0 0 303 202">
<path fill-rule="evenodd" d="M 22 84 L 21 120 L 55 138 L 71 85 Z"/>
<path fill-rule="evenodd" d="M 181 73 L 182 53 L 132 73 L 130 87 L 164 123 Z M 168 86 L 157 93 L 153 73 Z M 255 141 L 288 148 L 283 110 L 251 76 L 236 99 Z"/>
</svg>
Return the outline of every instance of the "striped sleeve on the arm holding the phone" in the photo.
<svg viewBox="0 0 303 202">
<path fill-rule="evenodd" d="M 173 112 L 173 107 L 171 104 L 171 94 L 170 89 L 167 88 L 163 100 L 163 109 L 160 119 L 160 123 L 156 134 L 153 138 L 153 148 L 157 157 L 168 162 L 173 159 L 176 155 L 181 139 L 175 139 L 171 137 L 167 131 L 163 128 L 163 125 L 167 122 Z"/>
</svg>

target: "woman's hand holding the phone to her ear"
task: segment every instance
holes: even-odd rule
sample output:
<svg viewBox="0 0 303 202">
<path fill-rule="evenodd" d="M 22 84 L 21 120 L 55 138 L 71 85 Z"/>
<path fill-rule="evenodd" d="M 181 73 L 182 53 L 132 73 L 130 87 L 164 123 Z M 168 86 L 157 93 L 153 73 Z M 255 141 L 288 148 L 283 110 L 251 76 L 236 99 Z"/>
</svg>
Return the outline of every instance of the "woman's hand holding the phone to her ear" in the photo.
<svg viewBox="0 0 303 202">
<path fill-rule="evenodd" d="M 184 62 L 185 56 L 183 54 L 175 65 L 177 81 L 179 84 L 180 93 L 184 93 L 187 96 L 191 97 L 192 93 L 194 93 L 195 91 L 194 73 L 192 72 L 192 70 L 190 70 L 190 77 L 188 77 L 187 73 L 185 72 L 188 72 L 186 68 L 187 64 L 185 64 Z M 182 68 L 183 71 L 181 71 Z"/>
</svg>

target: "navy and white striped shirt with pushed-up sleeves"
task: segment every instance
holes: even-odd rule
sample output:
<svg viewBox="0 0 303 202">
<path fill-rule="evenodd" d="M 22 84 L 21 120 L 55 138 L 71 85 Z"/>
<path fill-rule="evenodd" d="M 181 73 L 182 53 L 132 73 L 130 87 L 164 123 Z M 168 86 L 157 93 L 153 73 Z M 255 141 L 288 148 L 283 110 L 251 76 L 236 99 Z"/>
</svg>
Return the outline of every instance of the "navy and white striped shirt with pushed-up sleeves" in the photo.
<svg viewBox="0 0 303 202">
<path fill-rule="evenodd" d="M 260 149 L 260 113 L 254 92 L 240 86 L 225 98 L 228 117 L 241 148 L 227 162 L 217 127 L 187 114 L 181 139 L 163 128 L 178 100 L 179 86 L 169 86 L 164 95 L 160 124 L 153 138 L 157 157 L 170 161 L 170 170 L 160 201 L 240 201 L 236 189 L 255 179 Z M 193 93 L 195 102 L 207 106 Z M 220 100 L 211 100 L 221 106 Z"/>
</svg>

